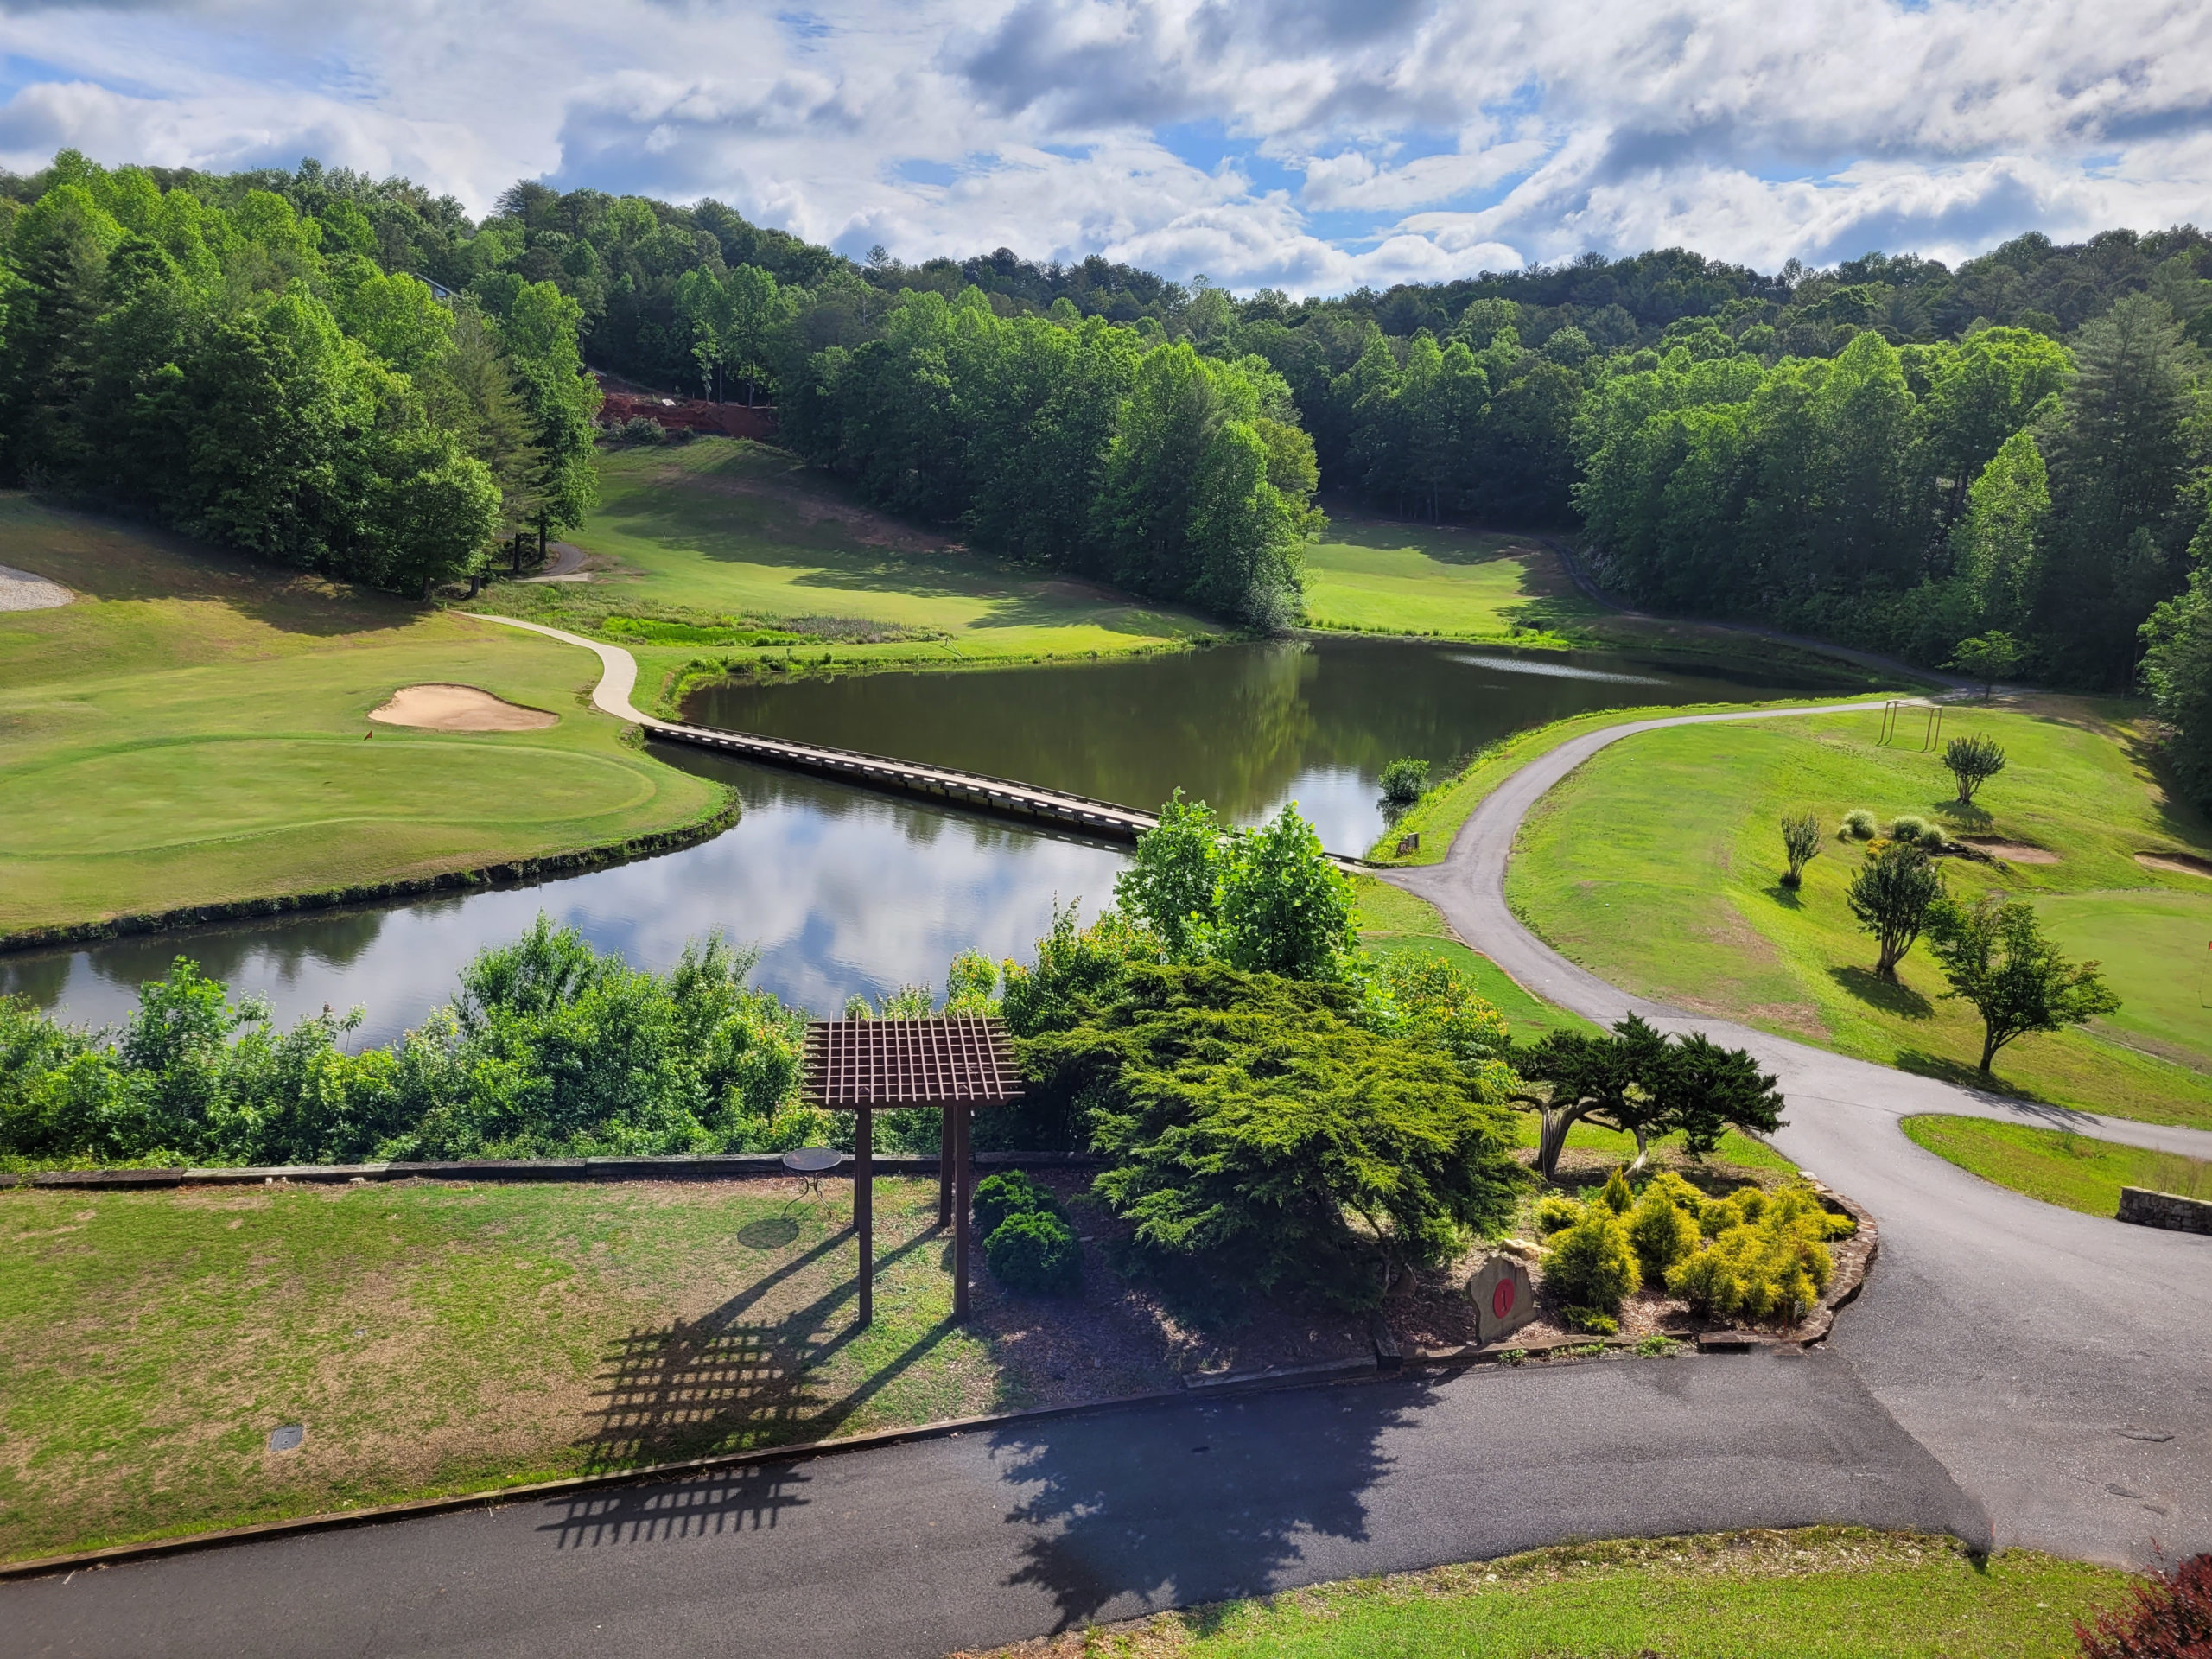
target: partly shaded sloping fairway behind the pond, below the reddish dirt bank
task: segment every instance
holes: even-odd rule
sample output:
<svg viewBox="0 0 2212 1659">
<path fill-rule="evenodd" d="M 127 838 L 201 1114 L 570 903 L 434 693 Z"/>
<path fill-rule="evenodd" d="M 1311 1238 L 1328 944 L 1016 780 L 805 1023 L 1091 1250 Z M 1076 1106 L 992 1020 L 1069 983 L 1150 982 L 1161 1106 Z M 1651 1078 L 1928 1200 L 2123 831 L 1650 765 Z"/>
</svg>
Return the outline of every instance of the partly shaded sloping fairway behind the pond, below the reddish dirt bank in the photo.
<svg viewBox="0 0 2212 1659">
<path fill-rule="evenodd" d="M 860 507 L 781 449 L 739 438 L 599 456 L 602 504 L 575 542 L 593 580 L 495 586 L 478 606 L 595 630 L 619 606 L 668 617 L 834 619 L 905 639 L 832 635 L 843 668 L 1108 657 L 1219 635 L 1219 622 L 967 553 Z M 863 630 L 865 633 L 865 630 Z M 613 635 L 611 635 L 613 637 Z M 639 644 L 639 684 L 664 690 L 695 644 Z M 739 664 L 781 646 L 723 648 Z"/>
</svg>

